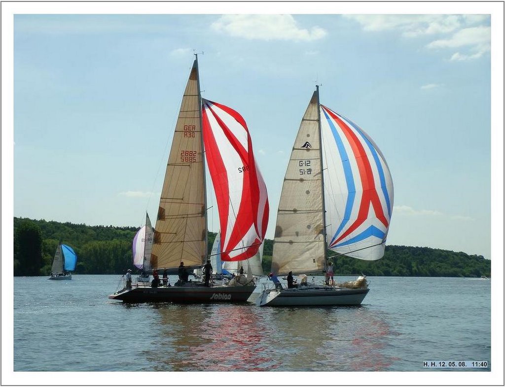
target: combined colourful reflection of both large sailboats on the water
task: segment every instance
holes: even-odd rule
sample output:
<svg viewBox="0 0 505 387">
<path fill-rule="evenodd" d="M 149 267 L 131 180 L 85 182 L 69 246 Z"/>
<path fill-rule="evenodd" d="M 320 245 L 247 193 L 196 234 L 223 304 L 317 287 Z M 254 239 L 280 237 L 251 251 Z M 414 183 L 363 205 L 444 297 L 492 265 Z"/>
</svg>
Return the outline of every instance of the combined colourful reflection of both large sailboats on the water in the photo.
<svg viewBox="0 0 505 387">
<path fill-rule="evenodd" d="M 144 350 L 160 371 L 379 371 L 394 333 L 366 307 L 151 304 Z M 146 343 L 147 344 L 147 343 Z"/>
</svg>

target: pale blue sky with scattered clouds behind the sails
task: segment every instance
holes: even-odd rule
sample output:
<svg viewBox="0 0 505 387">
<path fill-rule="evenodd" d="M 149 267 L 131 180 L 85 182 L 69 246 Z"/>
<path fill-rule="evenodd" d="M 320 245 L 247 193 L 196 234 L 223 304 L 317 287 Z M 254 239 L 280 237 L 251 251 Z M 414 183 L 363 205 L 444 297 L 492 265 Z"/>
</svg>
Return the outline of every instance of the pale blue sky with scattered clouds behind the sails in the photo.
<svg viewBox="0 0 505 387">
<path fill-rule="evenodd" d="M 394 184 L 387 244 L 491 259 L 491 113 L 503 107 L 491 111 L 487 7 L 383 15 L 356 7 L 17 13 L 14 145 L 2 141 L 3 152 L 12 150 L 13 215 L 140 227 L 147 211 L 154 220 L 199 53 L 202 96 L 247 122 L 268 188 L 267 238 L 318 84 L 321 103 L 359 124 L 387 160 Z M 502 183 L 498 189 L 502 203 Z M 209 229 L 218 231 L 208 193 Z"/>
</svg>

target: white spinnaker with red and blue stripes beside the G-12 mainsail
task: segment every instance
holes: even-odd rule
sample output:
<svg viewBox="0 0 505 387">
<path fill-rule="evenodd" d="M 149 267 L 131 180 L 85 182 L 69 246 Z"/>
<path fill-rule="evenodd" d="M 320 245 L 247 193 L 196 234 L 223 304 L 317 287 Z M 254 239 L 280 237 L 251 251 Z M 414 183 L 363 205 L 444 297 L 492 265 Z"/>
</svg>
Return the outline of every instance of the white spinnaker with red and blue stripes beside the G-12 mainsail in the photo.
<svg viewBox="0 0 505 387">
<path fill-rule="evenodd" d="M 354 122 L 321 105 L 328 248 L 362 260 L 384 255 L 393 182 L 374 141 Z"/>
</svg>

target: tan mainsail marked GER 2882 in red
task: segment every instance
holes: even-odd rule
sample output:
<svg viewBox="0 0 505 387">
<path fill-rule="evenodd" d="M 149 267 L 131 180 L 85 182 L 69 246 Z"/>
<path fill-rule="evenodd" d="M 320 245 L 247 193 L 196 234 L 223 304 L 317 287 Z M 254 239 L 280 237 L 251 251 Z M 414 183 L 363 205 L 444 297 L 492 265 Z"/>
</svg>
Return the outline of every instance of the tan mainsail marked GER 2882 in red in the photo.
<svg viewBox="0 0 505 387">
<path fill-rule="evenodd" d="M 155 227 L 151 267 L 201 266 L 207 255 L 198 64 L 182 97 Z"/>
</svg>

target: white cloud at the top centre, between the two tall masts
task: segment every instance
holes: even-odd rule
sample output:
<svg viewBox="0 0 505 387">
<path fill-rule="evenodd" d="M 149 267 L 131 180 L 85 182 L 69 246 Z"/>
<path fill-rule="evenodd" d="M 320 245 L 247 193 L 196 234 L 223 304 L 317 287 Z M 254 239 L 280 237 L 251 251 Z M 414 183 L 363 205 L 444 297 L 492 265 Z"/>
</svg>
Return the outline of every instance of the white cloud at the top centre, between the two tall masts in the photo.
<svg viewBox="0 0 505 387">
<path fill-rule="evenodd" d="M 311 41 L 326 36 L 318 26 L 300 28 L 291 15 L 223 15 L 212 23 L 215 31 L 230 36 L 258 40 Z"/>
</svg>

